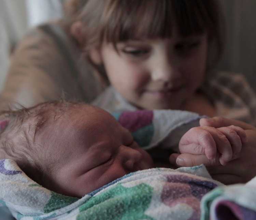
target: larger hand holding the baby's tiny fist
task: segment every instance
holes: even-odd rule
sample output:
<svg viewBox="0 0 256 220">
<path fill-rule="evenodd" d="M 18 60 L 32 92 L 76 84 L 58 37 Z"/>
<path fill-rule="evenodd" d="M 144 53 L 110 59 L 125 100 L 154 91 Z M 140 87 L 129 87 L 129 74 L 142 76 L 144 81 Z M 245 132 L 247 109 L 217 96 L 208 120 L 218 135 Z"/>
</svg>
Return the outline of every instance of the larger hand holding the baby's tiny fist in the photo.
<svg viewBox="0 0 256 220">
<path fill-rule="evenodd" d="M 173 153 L 170 156 L 170 163 L 178 167 L 196 166 L 203 163 L 207 166 L 213 179 L 219 180 L 227 185 L 249 181 L 256 176 L 256 128 L 250 124 L 223 117 L 200 120 L 200 126 L 219 128 L 231 125 L 244 129 L 247 136 L 247 142 L 243 144 L 238 159 L 229 161 L 223 166 L 219 165 L 219 162 L 216 160 L 207 159 L 205 155 L 193 155 L 183 152 L 181 154 Z"/>
</svg>

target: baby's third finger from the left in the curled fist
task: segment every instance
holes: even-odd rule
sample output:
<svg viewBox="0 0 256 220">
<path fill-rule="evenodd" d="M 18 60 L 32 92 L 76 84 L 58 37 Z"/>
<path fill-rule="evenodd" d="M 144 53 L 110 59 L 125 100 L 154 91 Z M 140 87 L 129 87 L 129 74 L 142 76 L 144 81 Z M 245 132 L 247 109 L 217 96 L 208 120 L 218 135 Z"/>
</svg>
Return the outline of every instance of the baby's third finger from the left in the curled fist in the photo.
<svg viewBox="0 0 256 220">
<path fill-rule="evenodd" d="M 239 153 L 242 149 L 242 144 L 246 142 L 246 134 L 245 131 L 237 126 L 229 126 L 229 127 L 222 127 L 217 128 L 217 130 L 221 131 L 229 140 L 229 143 L 231 144 L 232 148 L 232 160 L 237 159 L 239 157 Z M 222 156 L 220 160 L 222 160 Z M 228 161 L 224 161 L 228 162 Z"/>
</svg>

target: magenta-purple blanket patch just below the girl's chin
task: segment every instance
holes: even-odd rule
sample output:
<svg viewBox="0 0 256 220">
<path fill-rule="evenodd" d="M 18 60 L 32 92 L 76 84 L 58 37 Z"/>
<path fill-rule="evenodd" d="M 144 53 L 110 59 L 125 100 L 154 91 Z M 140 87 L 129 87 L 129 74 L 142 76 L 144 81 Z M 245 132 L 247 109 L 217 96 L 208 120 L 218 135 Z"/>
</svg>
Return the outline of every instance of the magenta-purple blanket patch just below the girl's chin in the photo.
<svg viewBox="0 0 256 220">
<path fill-rule="evenodd" d="M 142 127 L 152 124 L 153 111 L 126 111 L 119 116 L 118 121 L 130 132 L 135 132 Z"/>
</svg>

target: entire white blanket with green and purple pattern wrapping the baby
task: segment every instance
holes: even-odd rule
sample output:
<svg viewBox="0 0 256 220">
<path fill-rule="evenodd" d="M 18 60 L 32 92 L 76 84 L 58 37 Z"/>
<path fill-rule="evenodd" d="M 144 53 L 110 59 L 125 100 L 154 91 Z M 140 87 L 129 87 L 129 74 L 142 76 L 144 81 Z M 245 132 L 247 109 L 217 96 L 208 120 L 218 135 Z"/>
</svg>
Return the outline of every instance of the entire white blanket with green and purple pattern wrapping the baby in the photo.
<svg viewBox="0 0 256 220">
<path fill-rule="evenodd" d="M 167 137 L 171 137 L 168 146 L 174 146 L 179 135 L 200 119 L 194 113 L 168 110 L 113 115 L 146 149 Z M 256 179 L 246 185 L 223 186 L 201 165 L 130 173 L 79 199 L 43 188 L 14 161 L 4 159 L 0 160 L 0 220 L 11 219 L 10 213 L 18 220 L 193 220 L 200 216 L 202 220 L 233 216 L 250 220 L 256 219 L 255 189 Z"/>
</svg>

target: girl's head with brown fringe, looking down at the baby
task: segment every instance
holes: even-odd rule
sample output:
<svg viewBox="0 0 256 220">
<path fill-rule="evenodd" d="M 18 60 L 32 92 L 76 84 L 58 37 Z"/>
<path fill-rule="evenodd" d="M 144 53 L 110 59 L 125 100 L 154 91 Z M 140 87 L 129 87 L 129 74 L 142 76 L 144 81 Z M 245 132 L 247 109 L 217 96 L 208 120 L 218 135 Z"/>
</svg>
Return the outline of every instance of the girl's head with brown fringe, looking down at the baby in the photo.
<svg viewBox="0 0 256 220">
<path fill-rule="evenodd" d="M 70 32 L 128 102 L 182 109 L 221 54 L 220 14 L 216 0 L 88 0 Z"/>
</svg>

